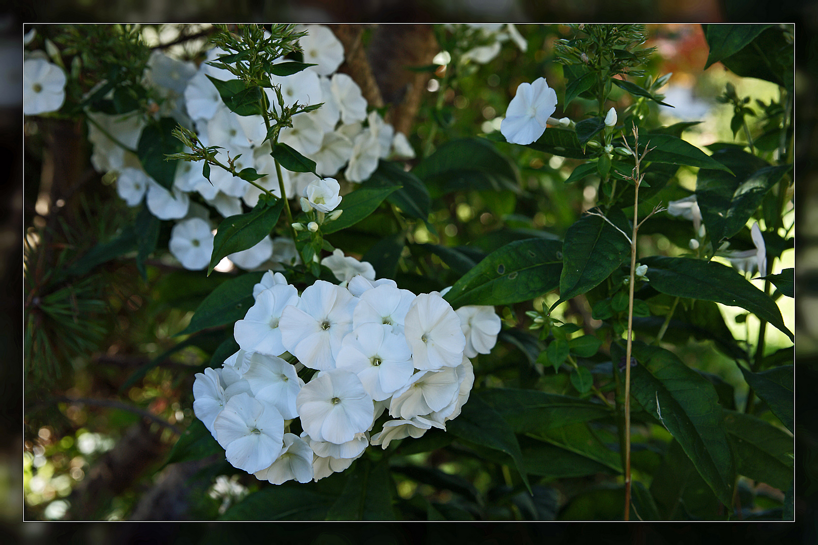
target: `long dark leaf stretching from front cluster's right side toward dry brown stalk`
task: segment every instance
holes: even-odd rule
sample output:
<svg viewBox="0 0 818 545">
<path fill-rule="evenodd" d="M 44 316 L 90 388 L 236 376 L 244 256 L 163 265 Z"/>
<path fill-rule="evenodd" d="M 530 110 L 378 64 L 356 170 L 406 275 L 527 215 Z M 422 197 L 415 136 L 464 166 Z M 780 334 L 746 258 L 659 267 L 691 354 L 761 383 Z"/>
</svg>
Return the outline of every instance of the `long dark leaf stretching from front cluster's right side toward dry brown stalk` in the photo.
<svg viewBox="0 0 818 545">
<path fill-rule="evenodd" d="M 612 414 L 603 404 L 537 390 L 489 388 L 473 395 L 496 410 L 515 433 L 542 434 L 551 427 L 569 426 Z"/>
</svg>

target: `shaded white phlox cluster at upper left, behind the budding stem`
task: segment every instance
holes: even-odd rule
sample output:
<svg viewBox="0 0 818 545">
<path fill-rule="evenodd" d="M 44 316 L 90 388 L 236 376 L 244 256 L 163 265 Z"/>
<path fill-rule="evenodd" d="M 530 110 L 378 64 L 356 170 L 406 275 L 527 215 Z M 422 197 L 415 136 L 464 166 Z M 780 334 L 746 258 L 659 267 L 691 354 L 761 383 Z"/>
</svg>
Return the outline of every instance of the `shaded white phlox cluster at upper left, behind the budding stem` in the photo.
<svg viewBox="0 0 818 545">
<path fill-rule="evenodd" d="M 279 141 L 315 161 L 320 176 L 336 175 L 345 167 L 344 178 L 353 182 L 369 178 L 378 167 L 379 159 L 414 157 L 414 150 L 405 135 L 396 133 L 377 112 L 366 113 L 366 100 L 357 83 L 347 74 L 335 73 L 344 60 L 344 47 L 330 29 L 304 25 L 299 30 L 308 33 L 299 41 L 304 62 L 316 65 L 285 77 L 271 76 L 270 80 L 281 85 L 281 94 L 288 106 L 296 101 L 299 105 L 323 103 L 323 106 L 312 112 L 296 114 L 293 127 L 282 129 Z M 217 60 L 222 53 L 226 51 L 213 49 L 207 60 Z M 52 72 L 38 65 L 36 74 L 39 77 L 39 74 Z M 35 74 L 34 68 L 31 74 Z M 231 159 L 240 156 L 234 163 L 236 171 L 254 168 L 256 172 L 267 174 L 255 183 L 281 196 L 270 143 L 263 142 L 267 129 L 262 116 L 240 116 L 231 112 L 208 76 L 221 80 L 235 78 L 229 71 L 206 62 L 197 68 L 190 62 L 155 51 L 148 62 L 144 82 L 164 99 L 155 115 L 172 117 L 183 126 L 194 129 L 205 146 L 221 146 L 217 159 L 222 163 L 227 163 L 228 156 Z M 51 80 L 43 77 L 37 80 L 38 85 L 51 92 L 58 83 L 56 76 L 52 79 L 55 83 L 51 87 L 48 83 Z M 63 84 L 64 80 L 63 75 Z M 271 104 L 277 105 L 273 90 L 267 89 L 266 92 Z M 211 221 L 207 208 L 191 204 L 191 194 L 199 194 L 222 217 L 229 217 L 244 212 L 242 203 L 254 207 L 262 190 L 221 168 L 212 168 L 208 181 L 200 163 L 182 161 L 173 187 L 167 190 L 142 169 L 135 154 L 122 146 L 130 150 L 137 148 L 142 129 L 146 127 L 143 118 L 136 113 L 109 115 L 92 112 L 88 117 L 91 118 L 88 139 L 93 145 L 94 167 L 99 172 L 116 174 L 117 191 L 128 206 L 138 206 L 142 199 L 146 199 L 147 207 L 155 217 L 178 221 L 172 233 L 171 252 L 185 268 L 204 269 L 209 263 L 209 252 L 213 251 L 213 227 L 217 222 Z M 326 194 L 323 190 L 308 193 L 311 184 L 317 187 L 317 182 L 321 181 L 312 173 L 288 172 L 282 168 L 281 175 L 288 198 L 308 196 L 317 209 L 321 209 L 321 205 L 325 208 L 332 204 L 337 206 L 340 201 L 339 188 L 335 194 Z M 321 182 L 327 180 L 332 179 Z M 276 264 L 291 264 L 294 258 L 291 239 L 276 242 L 269 237 L 253 248 L 228 256 L 236 266 L 248 270 L 262 266 L 280 267 Z"/>
</svg>

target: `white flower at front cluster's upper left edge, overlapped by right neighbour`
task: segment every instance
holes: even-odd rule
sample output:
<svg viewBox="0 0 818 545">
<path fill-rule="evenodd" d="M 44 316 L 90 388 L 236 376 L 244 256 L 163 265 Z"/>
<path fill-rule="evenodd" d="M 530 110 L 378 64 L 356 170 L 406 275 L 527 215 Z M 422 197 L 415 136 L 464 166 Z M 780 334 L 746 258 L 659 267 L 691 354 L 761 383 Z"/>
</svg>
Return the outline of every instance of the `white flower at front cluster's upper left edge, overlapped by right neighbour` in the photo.
<svg viewBox="0 0 818 545">
<path fill-rule="evenodd" d="M 288 284 L 276 284 L 259 293 L 255 304 L 247 309 L 245 318 L 238 320 L 233 330 L 241 349 L 266 355 L 284 354 L 287 349 L 281 344 L 278 328 L 281 311 L 298 302 L 298 290 Z"/>
</svg>

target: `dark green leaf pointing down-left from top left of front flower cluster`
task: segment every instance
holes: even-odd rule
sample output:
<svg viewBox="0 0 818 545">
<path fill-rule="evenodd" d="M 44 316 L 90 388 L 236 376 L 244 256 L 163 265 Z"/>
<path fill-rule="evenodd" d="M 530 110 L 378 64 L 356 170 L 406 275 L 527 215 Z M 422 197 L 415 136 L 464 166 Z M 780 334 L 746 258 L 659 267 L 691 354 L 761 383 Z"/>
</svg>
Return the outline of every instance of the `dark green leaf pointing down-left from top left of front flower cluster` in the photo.
<svg viewBox="0 0 818 545">
<path fill-rule="evenodd" d="M 249 307 L 254 305 L 253 286 L 261 281 L 262 275 L 263 272 L 245 273 L 219 284 L 201 302 L 187 328 L 178 334 L 196 333 L 244 318 Z"/>
</svg>

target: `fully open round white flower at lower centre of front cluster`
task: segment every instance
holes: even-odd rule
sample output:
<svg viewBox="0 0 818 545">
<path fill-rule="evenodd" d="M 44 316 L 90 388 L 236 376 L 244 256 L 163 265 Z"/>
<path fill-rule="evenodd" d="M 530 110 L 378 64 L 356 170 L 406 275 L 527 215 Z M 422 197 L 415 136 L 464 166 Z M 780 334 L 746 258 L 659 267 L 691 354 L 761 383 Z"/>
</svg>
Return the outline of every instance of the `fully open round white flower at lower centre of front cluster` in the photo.
<svg viewBox="0 0 818 545">
<path fill-rule="evenodd" d="M 301 425 L 313 440 L 346 443 L 372 425 L 372 398 L 355 373 L 344 369 L 317 373 L 295 403 Z"/>
</svg>

